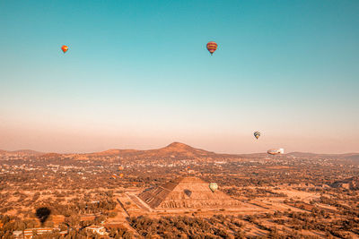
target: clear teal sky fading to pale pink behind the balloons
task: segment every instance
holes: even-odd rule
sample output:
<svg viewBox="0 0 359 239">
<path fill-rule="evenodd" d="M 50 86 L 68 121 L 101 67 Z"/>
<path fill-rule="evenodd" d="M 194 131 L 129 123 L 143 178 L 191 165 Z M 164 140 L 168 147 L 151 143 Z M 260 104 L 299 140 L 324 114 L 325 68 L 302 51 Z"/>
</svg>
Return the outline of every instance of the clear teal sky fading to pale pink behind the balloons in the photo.
<svg viewBox="0 0 359 239">
<path fill-rule="evenodd" d="M 2 0 L 0 30 L 0 149 L 359 151 L 357 0 Z"/>
</svg>

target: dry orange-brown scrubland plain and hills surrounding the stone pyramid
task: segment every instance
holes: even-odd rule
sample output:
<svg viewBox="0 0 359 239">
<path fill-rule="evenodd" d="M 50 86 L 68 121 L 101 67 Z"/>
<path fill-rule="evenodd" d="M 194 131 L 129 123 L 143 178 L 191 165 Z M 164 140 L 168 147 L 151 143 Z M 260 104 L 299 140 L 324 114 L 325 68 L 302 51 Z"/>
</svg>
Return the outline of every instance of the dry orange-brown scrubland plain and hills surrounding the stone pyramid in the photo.
<svg viewBox="0 0 359 239">
<path fill-rule="evenodd" d="M 358 162 L 353 156 L 216 155 L 179 143 L 84 155 L 3 153 L 0 238 L 39 227 L 50 230 L 31 230 L 33 238 L 358 238 Z M 236 203 L 192 203 L 201 187 L 183 198 L 185 208 L 180 201 L 164 208 L 145 203 L 151 197 L 144 190 L 179 176 L 215 182 L 221 191 L 215 193 Z M 103 232 L 86 228 L 92 225 Z"/>
</svg>

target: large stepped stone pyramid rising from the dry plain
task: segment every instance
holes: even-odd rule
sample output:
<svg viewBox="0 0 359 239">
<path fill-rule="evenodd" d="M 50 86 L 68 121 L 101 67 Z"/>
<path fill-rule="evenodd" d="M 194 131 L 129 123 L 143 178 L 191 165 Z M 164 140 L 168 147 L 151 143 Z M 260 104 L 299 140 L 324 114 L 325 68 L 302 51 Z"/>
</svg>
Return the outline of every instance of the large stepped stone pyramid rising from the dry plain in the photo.
<svg viewBox="0 0 359 239">
<path fill-rule="evenodd" d="M 209 184 L 197 177 L 176 178 L 144 190 L 138 197 L 152 209 L 224 209 L 240 204 L 224 192 L 212 192 Z"/>
</svg>

